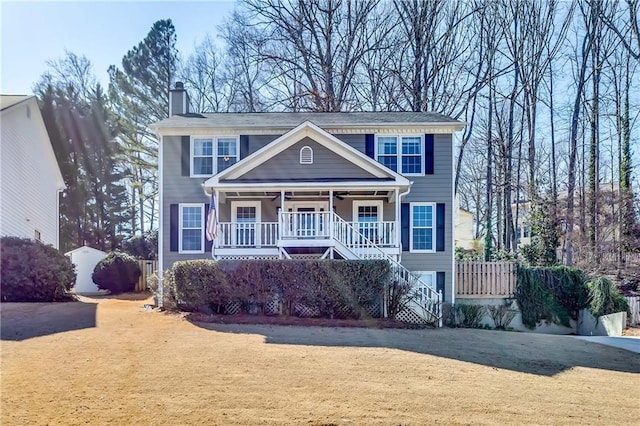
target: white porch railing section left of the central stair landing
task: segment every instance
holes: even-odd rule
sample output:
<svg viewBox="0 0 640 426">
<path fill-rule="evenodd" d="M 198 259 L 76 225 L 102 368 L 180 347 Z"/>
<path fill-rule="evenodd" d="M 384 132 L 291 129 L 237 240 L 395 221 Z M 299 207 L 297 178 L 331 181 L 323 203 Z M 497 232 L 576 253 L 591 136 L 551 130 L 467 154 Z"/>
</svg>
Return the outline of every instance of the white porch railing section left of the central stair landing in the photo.
<svg viewBox="0 0 640 426">
<path fill-rule="evenodd" d="M 278 222 L 221 222 L 217 247 L 275 247 Z"/>
</svg>

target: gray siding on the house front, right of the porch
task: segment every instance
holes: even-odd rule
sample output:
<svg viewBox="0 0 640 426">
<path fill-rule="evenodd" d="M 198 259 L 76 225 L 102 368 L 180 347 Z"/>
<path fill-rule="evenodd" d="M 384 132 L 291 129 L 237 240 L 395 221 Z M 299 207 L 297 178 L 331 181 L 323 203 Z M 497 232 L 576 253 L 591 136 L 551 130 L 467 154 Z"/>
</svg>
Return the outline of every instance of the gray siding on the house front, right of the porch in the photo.
<svg viewBox="0 0 640 426">
<path fill-rule="evenodd" d="M 445 300 L 451 301 L 453 279 L 453 144 L 451 135 L 434 136 L 434 174 L 411 176 L 411 192 L 403 203 L 433 202 L 445 204 L 445 251 L 435 253 L 402 252 L 402 264 L 412 271 L 445 272 Z"/>
</svg>

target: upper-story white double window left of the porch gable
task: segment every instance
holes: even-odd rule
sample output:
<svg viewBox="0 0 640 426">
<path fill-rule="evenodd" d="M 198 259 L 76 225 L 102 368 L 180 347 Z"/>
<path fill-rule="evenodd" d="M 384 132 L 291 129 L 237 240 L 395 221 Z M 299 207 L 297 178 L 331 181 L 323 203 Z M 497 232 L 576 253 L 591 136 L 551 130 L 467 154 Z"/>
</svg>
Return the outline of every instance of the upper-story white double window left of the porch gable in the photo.
<svg viewBox="0 0 640 426">
<path fill-rule="evenodd" d="M 191 138 L 191 177 L 209 177 L 238 162 L 240 140 L 236 136 Z"/>
</svg>

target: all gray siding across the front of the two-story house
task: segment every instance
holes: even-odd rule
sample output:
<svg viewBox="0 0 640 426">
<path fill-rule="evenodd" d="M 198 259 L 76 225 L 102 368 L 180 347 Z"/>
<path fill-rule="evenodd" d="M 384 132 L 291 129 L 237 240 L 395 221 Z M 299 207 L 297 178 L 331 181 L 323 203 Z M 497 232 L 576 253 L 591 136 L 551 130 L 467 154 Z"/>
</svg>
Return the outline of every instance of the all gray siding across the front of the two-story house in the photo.
<svg viewBox="0 0 640 426">
<path fill-rule="evenodd" d="M 361 152 L 365 152 L 365 135 L 337 135 L 339 139 L 353 146 Z M 249 136 L 249 153 L 266 146 L 277 135 L 251 135 Z M 163 138 L 163 268 L 170 268 L 173 262 L 178 260 L 209 258 L 209 253 L 202 254 L 179 254 L 169 251 L 170 247 L 170 205 L 180 203 L 203 203 L 209 202 L 202 190 L 201 184 L 204 178 L 190 178 L 181 175 L 181 138 L 180 136 L 165 136 Z M 299 164 L 300 148 L 304 145 L 312 146 L 314 151 L 314 164 Z M 435 253 L 402 253 L 402 263 L 413 271 L 436 271 L 445 272 L 445 300 L 451 301 L 451 282 L 453 279 L 452 261 L 454 255 L 453 230 L 452 230 L 452 209 L 453 209 L 453 145 L 451 135 L 434 136 L 434 174 L 426 176 L 410 176 L 413 186 L 411 192 L 402 202 L 433 202 L 445 204 L 445 251 Z M 317 166 L 317 167 L 315 167 Z M 272 171 L 276 171 L 273 173 Z M 352 163 L 337 156 L 311 140 L 303 140 L 278 156 L 267 161 L 255 171 L 249 172 L 245 178 L 290 178 L 294 176 L 294 171 L 298 171 L 298 176 L 307 178 L 327 177 L 330 173 L 340 172 L 339 177 L 371 177 L 366 172 L 358 169 Z M 331 176 L 338 177 L 338 176 Z M 351 221 L 353 218 L 353 199 L 346 198 L 339 200 L 334 198 L 336 212 L 345 220 Z M 384 206 L 384 220 L 394 220 L 396 206 L 386 200 Z M 262 221 L 277 221 L 277 209 L 280 207 L 280 199 L 271 201 L 270 198 L 262 200 Z M 221 222 L 231 220 L 231 200 L 220 205 L 219 218 Z M 400 224 L 400 218 L 397 218 Z"/>
</svg>

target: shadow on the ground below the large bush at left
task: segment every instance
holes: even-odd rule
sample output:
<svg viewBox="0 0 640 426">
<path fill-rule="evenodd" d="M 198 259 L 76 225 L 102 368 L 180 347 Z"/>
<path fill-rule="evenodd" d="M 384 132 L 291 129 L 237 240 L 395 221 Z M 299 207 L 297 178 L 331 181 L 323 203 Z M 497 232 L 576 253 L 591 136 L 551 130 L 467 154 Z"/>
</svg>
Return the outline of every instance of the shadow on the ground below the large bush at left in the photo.
<svg viewBox="0 0 640 426">
<path fill-rule="evenodd" d="M 26 340 L 96 326 L 95 303 L 2 303 L 0 339 Z"/>
</svg>

